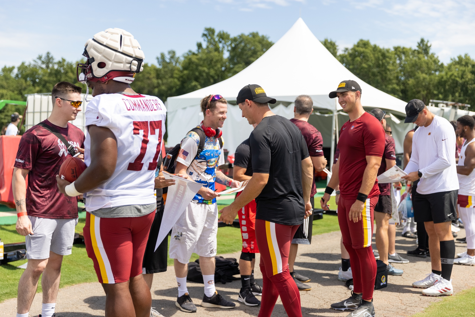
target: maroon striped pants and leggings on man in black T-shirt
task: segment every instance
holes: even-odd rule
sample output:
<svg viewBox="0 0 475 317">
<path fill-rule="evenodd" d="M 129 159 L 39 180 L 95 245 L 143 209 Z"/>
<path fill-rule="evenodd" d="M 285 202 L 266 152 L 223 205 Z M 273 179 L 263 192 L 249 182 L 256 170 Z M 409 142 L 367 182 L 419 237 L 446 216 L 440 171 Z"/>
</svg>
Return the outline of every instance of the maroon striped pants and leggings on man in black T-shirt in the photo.
<svg viewBox="0 0 475 317">
<path fill-rule="evenodd" d="M 270 317 L 280 296 L 289 317 L 302 317 L 300 293 L 290 276 L 290 244 L 299 225 L 286 226 L 256 219 L 256 238 L 261 253 L 262 298 L 258 317 Z"/>
</svg>

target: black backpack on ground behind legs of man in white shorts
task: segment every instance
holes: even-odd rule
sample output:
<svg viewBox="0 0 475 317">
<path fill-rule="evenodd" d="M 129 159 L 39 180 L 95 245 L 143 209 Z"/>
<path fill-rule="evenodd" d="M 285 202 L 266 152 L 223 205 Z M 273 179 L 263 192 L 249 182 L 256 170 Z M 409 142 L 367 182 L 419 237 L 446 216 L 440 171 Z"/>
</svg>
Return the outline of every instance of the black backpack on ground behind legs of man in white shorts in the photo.
<svg viewBox="0 0 475 317">
<path fill-rule="evenodd" d="M 223 284 L 236 279 L 233 275 L 239 274 L 239 264 L 234 258 L 214 257 L 216 261 L 216 269 L 214 273 L 215 283 L 220 281 Z M 188 275 L 186 279 L 190 282 L 203 283 L 203 275 L 199 267 L 199 259 L 188 263 Z"/>
</svg>

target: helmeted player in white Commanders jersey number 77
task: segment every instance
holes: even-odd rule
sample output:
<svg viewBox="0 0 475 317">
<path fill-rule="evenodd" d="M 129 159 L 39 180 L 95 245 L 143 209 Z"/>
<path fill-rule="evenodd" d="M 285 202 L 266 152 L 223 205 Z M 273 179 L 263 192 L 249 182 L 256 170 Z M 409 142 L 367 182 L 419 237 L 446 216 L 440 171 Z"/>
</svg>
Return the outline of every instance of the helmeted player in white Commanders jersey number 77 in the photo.
<svg viewBox="0 0 475 317">
<path fill-rule="evenodd" d="M 68 196 L 84 193 L 85 245 L 106 294 L 105 315 L 149 317 L 152 298 L 142 259 L 156 210 L 153 187 L 166 109 L 159 98 L 129 85 L 144 58 L 132 34 L 106 29 L 87 40 L 83 55 L 78 80 L 94 97 L 85 110 L 88 167 L 71 184 L 57 176 L 58 187 Z"/>
</svg>

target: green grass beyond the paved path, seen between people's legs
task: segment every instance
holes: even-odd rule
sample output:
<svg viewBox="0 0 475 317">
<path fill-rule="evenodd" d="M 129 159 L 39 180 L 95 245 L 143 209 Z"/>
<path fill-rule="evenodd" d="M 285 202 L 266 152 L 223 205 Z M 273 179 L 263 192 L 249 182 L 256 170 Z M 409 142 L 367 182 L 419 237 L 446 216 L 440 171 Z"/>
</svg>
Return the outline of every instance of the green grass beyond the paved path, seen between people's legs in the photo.
<svg viewBox="0 0 475 317">
<path fill-rule="evenodd" d="M 334 198 L 333 198 L 334 199 Z M 76 232 L 83 231 L 85 219 L 79 219 Z M 314 221 L 313 234 L 339 230 L 336 216 L 324 215 L 322 220 Z M 15 230 L 15 225 L 1 225 L 0 238 L 4 243 L 23 242 L 25 237 L 19 235 Z M 170 236 L 168 237 L 170 245 Z M 241 231 L 234 227 L 218 228 L 218 254 L 233 253 L 241 250 Z M 199 256 L 193 253 L 190 261 L 198 259 Z M 14 261 L 0 266 L 0 302 L 8 298 L 17 297 L 18 280 L 23 273 L 23 269 L 17 266 L 24 264 L 26 260 Z M 168 258 L 168 265 L 173 265 L 173 259 Z M 84 245 L 75 244 L 71 255 L 63 258 L 61 267 L 60 287 L 86 282 L 96 282 L 94 267 L 91 259 L 87 257 Z M 41 280 L 38 282 L 38 292 L 41 292 Z"/>
</svg>

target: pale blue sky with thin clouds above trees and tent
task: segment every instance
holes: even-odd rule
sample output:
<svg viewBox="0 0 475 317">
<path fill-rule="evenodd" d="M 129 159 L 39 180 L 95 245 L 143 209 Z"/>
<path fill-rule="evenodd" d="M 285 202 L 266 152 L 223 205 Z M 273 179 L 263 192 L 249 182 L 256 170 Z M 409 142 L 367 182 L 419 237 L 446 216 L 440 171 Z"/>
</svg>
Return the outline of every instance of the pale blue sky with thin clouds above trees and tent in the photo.
<svg viewBox="0 0 475 317">
<path fill-rule="evenodd" d="M 300 14 L 318 39 L 332 38 L 340 49 L 360 38 L 414 47 L 424 37 L 443 62 L 465 53 L 475 58 L 474 0 L 3 0 L 0 67 L 47 51 L 77 60 L 88 38 L 114 27 L 134 35 L 149 63 L 170 49 L 195 49 L 205 27 L 258 31 L 275 42 Z"/>
</svg>

